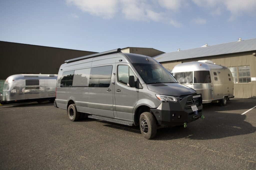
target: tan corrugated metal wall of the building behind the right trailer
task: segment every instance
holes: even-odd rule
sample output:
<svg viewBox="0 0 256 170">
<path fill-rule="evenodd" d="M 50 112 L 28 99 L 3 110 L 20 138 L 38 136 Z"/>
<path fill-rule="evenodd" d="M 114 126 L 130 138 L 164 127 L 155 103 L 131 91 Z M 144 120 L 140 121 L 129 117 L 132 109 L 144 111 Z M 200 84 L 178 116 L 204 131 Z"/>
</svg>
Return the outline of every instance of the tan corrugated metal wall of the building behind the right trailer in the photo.
<svg viewBox="0 0 256 170">
<path fill-rule="evenodd" d="M 255 51 L 185 59 L 161 64 L 165 68 L 172 70 L 169 66 L 175 66 L 180 62 L 211 60 L 212 62 L 225 67 L 250 66 L 251 77 L 256 77 L 256 56 L 253 55 L 253 53 L 255 53 Z M 234 96 L 236 98 L 256 98 L 256 81 L 234 84 Z"/>
</svg>

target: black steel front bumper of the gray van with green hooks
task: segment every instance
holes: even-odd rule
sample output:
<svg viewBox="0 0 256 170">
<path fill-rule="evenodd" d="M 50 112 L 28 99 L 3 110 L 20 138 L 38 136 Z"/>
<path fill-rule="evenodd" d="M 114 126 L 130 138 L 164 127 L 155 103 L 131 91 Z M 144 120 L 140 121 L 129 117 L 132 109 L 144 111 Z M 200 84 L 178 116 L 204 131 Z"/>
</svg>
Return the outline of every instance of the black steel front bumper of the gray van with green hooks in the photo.
<svg viewBox="0 0 256 170">
<path fill-rule="evenodd" d="M 193 95 L 184 97 L 177 102 L 162 102 L 158 108 L 151 109 L 159 125 L 179 126 L 199 119 L 202 116 L 202 97 L 199 97 L 197 111 L 193 111 L 191 106 L 186 106 L 187 101 L 191 101 Z"/>
</svg>

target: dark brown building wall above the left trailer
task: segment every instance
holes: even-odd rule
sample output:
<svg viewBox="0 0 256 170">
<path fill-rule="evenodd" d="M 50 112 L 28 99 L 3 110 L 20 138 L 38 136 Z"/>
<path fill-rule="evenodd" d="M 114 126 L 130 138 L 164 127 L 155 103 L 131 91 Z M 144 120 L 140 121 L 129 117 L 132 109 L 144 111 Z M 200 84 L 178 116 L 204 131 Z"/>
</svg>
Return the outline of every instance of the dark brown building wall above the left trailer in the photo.
<svg viewBox="0 0 256 170">
<path fill-rule="evenodd" d="M 58 74 L 65 60 L 90 54 L 95 52 L 0 41 L 0 80 L 13 74 Z"/>
</svg>

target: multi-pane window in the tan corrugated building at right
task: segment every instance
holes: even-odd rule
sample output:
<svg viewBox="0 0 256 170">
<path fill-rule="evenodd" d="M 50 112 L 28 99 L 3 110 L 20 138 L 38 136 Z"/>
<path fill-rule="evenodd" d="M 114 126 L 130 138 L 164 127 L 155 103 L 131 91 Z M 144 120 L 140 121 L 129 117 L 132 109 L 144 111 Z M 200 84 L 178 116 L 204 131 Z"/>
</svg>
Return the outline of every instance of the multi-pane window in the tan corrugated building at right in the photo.
<svg viewBox="0 0 256 170">
<path fill-rule="evenodd" d="M 229 67 L 234 83 L 251 83 L 250 66 Z"/>
</svg>

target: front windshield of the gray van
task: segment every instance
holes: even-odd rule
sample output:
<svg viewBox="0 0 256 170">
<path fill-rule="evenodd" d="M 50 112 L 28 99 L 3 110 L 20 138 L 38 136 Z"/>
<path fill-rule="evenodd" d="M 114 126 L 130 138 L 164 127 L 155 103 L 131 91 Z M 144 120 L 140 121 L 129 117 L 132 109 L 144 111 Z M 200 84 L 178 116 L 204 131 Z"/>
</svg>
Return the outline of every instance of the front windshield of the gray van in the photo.
<svg viewBox="0 0 256 170">
<path fill-rule="evenodd" d="M 146 84 L 177 83 L 173 76 L 159 64 L 133 63 L 133 66 Z"/>
</svg>

